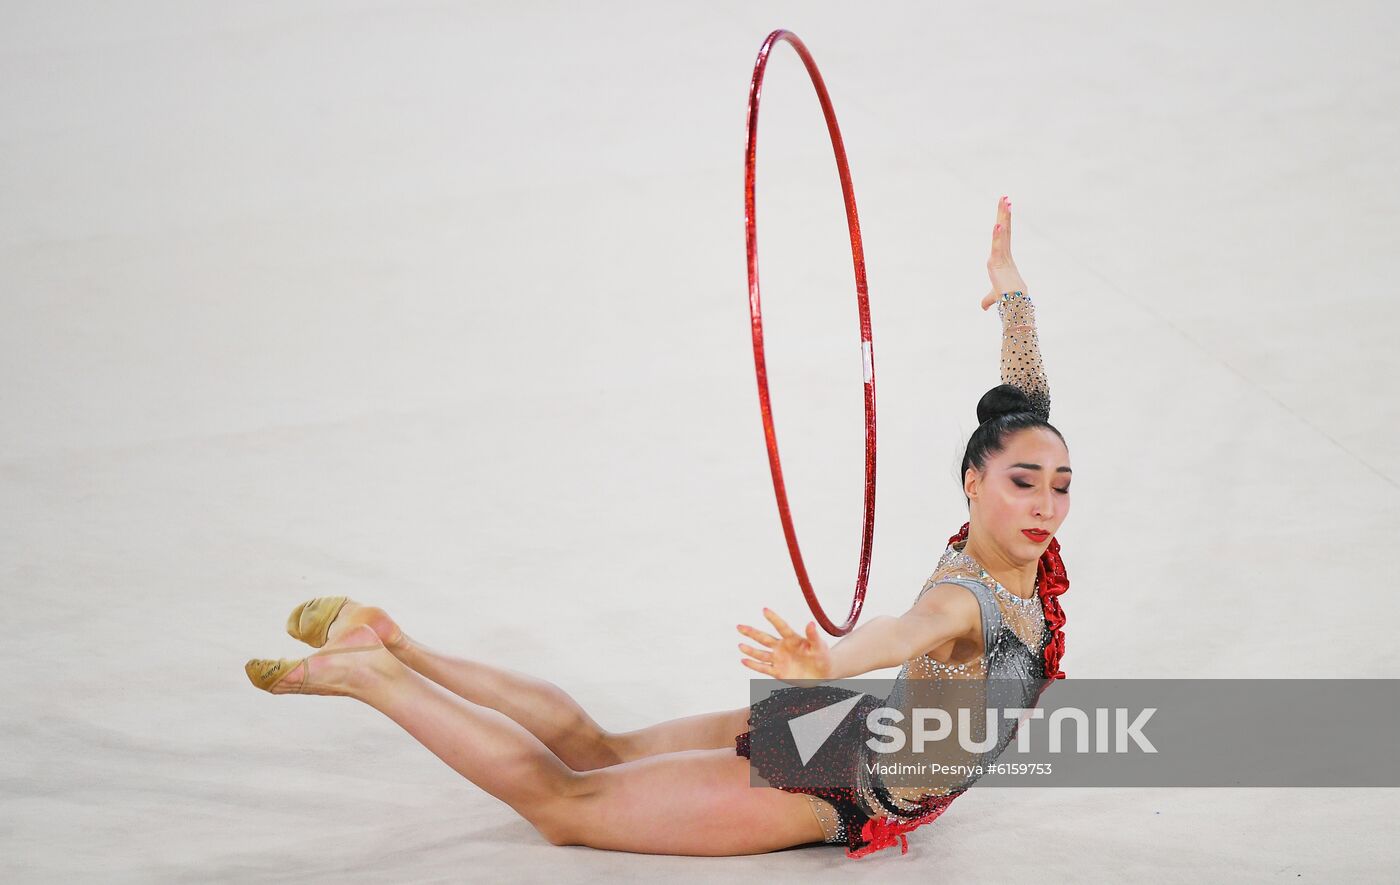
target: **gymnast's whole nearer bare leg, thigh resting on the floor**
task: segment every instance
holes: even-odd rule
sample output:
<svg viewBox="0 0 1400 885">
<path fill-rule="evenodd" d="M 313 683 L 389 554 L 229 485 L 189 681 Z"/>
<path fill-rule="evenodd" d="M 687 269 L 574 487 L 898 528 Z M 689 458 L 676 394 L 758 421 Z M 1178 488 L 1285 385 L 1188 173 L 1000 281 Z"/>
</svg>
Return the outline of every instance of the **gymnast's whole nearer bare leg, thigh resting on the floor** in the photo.
<svg viewBox="0 0 1400 885">
<path fill-rule="evenodd" d="M 442 689 L 368 626 L 343 632 L 274 693 L 349 695 L 379 710 L 456 773 L 501 800 L 554 844 L 648 854 L 757 854 L 822 840 L 805 795 L 750 787 L 724 749 L 648 756 L 578 773 L 519 723 Z"/>
</svg>

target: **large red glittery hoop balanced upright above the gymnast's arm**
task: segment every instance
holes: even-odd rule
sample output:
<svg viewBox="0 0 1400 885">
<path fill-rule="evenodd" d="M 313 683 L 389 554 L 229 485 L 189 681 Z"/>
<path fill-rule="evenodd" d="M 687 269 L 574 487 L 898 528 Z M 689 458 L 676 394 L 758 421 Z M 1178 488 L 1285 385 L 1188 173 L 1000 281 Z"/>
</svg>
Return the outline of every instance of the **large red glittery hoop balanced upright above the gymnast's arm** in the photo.
<svg viewBox="0 0 1400 885">
<path fill-rule="evenodd" d="M 855 573 L 855 597 L 851 601 L 851 611 L 846 623 L 837 626 L 822 611 L 816 594 L 812 592 L 812 583 L 806 577 L 806 567 L 802 564 L 802 552 L 798 549 L 797 532 L 792 529 L 792 514 L 788 511 L 787 492 L 783 486 L 783 465 L 778 461 L 777 434 L 773 430 L 773 407 L 769 402 L 769 377 L 763 361 L 763 315 L 759 308 L 759 245 L 757 228 L 753 214 L 753 158 L 759 137 L 759 94 L 763 88 L 763 71 L 769 63 L 769 50 L 778 42 L 787 41 L 797 50 L 806 66 L 806 73 L 812 78 L 816 95 L 822 101 L 822 113 L 826 116 L 826 129 L 832 136 L 832 150 L 836 151 L 836 168 L 841 176 L 841 195 L 846 200 L 846 227 L 851 235 L 851 259 L 855 265 L 855 302 L 861 319 L 861 360 L 865 377 L 865 511 L 861 528 L 861 562 Z M 749 316 L 753 328 L 753 367 L 759 381 L 759 405 L 763 412 L 763 434 L 769 447 L 769 468 L 773 472 L 773 492 L 777 494 L 778 517 L 783 520 L 783 534 L 787 536 L 788 553 L 792 557 L 792 569 L 797 571 L 797 583 L 802 587 L 806 605 L 812 609 L 816 622 L 833 636 L 844 636 L 851 632 L 861 616 L 861 606 L 865 604 L 865 585 L 871 569 L 871 545 L 875 535 L 875 351 L 871 343 L 871 312 L 869 294 L 865 287 L 865 252 L 861 248 L 861 224 L 855 216 L 855 192 L 851 189 L 851 172 L 846 165 L 846 147 L 841 143 L 841 130 L 836 123 L 836 111 L 832 109 L 832 99 L 826 94 L 822 83 L 822 73 L 812 60 L 812 53 L 791 31 L 777 29 L 769 34 L 759 49 L 757 62 L 753 64 L 753 81 L 749 84 L 749 137 L 743 154 L 743 227 L 745 242 L 749 258 Z"/>
</svg>

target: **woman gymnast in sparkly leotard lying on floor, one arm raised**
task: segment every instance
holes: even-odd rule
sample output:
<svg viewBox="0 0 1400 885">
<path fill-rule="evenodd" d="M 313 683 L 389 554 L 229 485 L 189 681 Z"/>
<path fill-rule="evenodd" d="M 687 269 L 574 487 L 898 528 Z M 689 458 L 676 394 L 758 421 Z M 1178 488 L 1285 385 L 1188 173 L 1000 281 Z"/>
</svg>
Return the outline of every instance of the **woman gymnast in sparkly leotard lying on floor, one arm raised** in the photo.
<svg viewBox="0 0 1400 885">
<path fill-rule="evenodd" d="M 1070 454 L 1049 423 L 1050 391 L 1035 309 L 1011 258 L 1007 197 L 997 204 L 987 270 L 991 291 L 981 308 L 997 304 L 1002 321 L 1002 384 L 977 403 L 980 424 L 963 457 L 967 524 L 899 618 L 872 618 L 830 647 L 815 622 L 802 636 L 770 609 L 763 612 L 777 636 L 739 625 L 760 646 L 739 644 L 750 669 L 826 681 L 903 664 L 899 682 L 1021 681 L 1028 707 L 1064 675 L 1057 597 L 1068 580 L 1054 535 L 1070 513 Z M 844 844 L 850 857 L 897 843 L 907 851 L 903 833 L 937 818 L 970 786 L 886 788 L 878 776 L 861 774 L 855 759 L 836 788 L 790 783 L 760 751 L 764 742 L 750 738 L 829 703 L 830 686 L 790 688 L 752 707 L 612 732 L 560 688 L 428 648 L 372 605 L 311 599 L 291 613 L 287 632 L 321 651 L 248 661 L 255 686 L 370 704 L 552 844 L 683 856 L 822 843 Z M 995 752 L 1008 739 L 1002 735 Z M 771 786 L 750 786 L 750 765 Z"/>
</svg>

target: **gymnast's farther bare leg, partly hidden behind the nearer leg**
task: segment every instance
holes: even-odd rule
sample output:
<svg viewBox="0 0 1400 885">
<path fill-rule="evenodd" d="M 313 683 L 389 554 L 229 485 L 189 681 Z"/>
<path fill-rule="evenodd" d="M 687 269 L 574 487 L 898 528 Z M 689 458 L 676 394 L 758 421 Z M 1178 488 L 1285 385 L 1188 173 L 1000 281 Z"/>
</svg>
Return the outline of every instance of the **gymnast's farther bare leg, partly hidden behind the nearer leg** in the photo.
<svg viewBox="0 0 1400 885">
<path fill-rule="evenodd" d="M 402 633 L 388 613 L 375 606 L 347 602 L 330 626 L 330 641 L 361 623 L 374 627 L 382 639 L 402 636 L 388 648 L 403 664 L 456 696 L 515 720 L 575 772 L 682 749 L 732 749 L 735 735 L 748 731 L 749 709 L 739 707 L 615 734 L 602 728 L 557 685 L 434 651 Z"/>
</svg>

